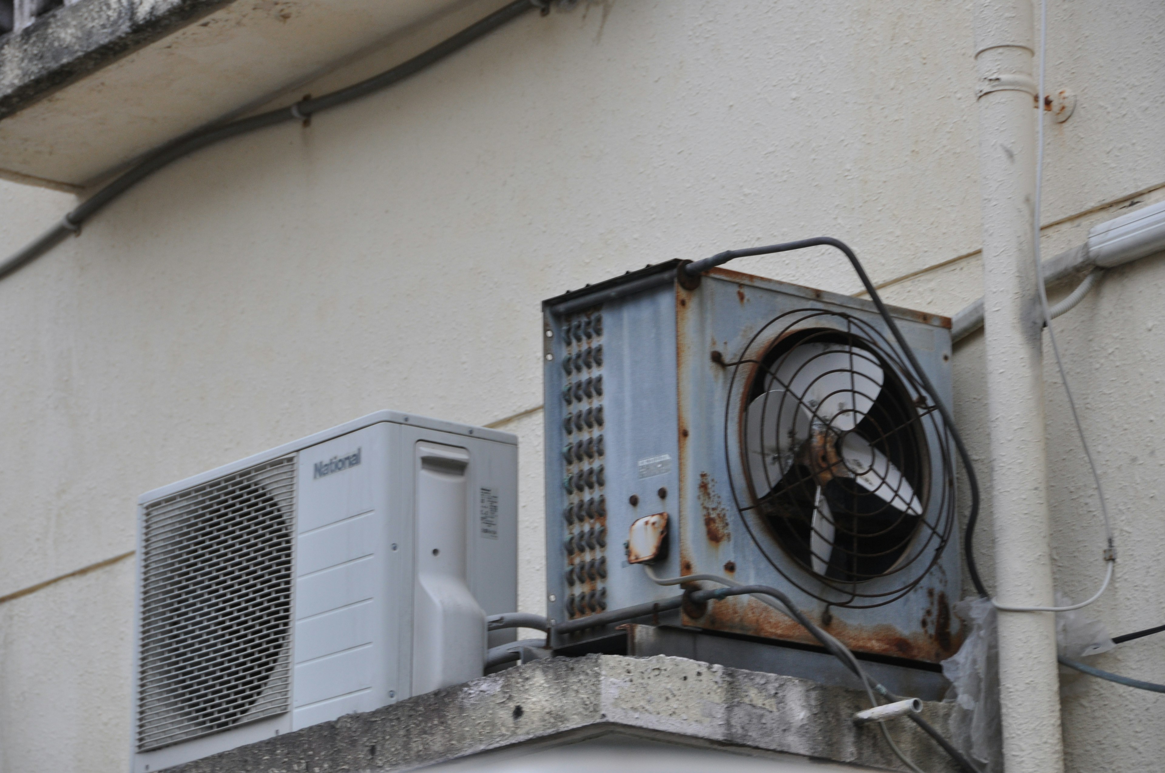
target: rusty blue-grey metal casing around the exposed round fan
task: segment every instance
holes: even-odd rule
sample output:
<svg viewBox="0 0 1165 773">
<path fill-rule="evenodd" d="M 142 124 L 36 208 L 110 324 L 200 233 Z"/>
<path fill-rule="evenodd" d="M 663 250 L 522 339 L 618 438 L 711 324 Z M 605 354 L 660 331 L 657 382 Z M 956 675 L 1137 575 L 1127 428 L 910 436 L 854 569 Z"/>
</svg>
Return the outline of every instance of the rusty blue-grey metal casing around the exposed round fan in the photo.
<svg viewBox="0 0 1165 773">
<path fill-rule="evenodd" d="M 733 364 L 757 357 L 772 343 L 770 333 L 790 333 L 771 325 L 778 318 L 803 320 L 793 325 L 799 329 L 829 328 L 846 317 L 889 339 L 874 305 L 723 269 L 682 284 L 679 264 L 651 265 L 543 304 L 549 617 L 562 623 L 673 596 L 676 589 L 654 584 L 628 563 L 624 549 L 634 520 L 666 512 L 670 551 L 655 567 L 661 576 L 709 573 L 782 588 L 855 652 L 933 668 L 962 640 L 949 608 L 961 597 L 956 529 L 941 540 L 916 538 L 903 560 L 929 567 L 917 584 L 888 591 L 884 605 L 860 608 L 786 553 L 755 510 L 737 506 L 743 386 Z M 949 404 L 949 320 L 891 313 Z M 930 524 L 938 508 L 953 513 L 953 462 L 941 427 L 923 424 Z M 897 581 L 860 584 L 876 601 L 878 583 Z M 687 605 L 650 622 L 814 644 L 793 620 L 748 596 Z M 613 633 L 595 629 L 556 636 L 553 644 Z"/>
</svg>

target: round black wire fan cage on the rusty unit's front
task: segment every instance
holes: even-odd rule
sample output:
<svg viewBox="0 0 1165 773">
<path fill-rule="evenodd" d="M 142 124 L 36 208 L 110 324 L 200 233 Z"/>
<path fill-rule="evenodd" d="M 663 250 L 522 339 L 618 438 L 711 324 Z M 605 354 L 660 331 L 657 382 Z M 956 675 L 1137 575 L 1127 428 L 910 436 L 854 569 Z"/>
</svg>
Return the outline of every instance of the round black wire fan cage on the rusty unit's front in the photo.
<svg viewBox="0 0 1165 773">
<path fill-rule="evenodd" d="M 852 314 L 803 309 L 727 364 L 733 498 L 765 559 L 833 607 L 915 588 L 954 530 L 954 466 L 898 348 Z"/>
</svg>

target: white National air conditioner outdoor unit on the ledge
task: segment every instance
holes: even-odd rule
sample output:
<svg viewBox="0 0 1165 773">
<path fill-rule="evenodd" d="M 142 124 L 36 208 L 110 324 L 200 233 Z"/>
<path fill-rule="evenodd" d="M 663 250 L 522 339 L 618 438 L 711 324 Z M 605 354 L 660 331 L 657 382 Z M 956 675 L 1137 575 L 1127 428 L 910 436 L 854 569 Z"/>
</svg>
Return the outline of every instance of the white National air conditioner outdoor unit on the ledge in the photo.
<svg viewBox="0 0 1165 773">
<path fill-rule="evenodd" d="M 381 411 L 142 495 L 132 771 L 480 676 L 517 439 Z"/>
</svg>

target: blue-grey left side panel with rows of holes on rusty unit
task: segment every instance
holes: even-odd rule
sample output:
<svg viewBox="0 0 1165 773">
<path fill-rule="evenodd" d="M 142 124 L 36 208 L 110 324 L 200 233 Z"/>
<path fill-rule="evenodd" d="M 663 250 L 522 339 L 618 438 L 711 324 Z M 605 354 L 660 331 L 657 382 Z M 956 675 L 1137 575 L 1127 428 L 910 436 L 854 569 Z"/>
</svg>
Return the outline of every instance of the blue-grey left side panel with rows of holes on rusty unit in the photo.
<svg viewBox="0 0 1165 773">
<path fill-rule="evenodd" d="M 675 283 L 546 314 L 546 589 L 550 617 L 562 622 L 672 593 L 627 563 L 623 542 L 634 519 L 676 502 Z M 593 356 L 599 346 L 601 364 Z M 601 395 L 594 389 L 600 377 Z M 591 444 L 601 444 L 601 455 L 587 455 Z M 675 558 L 661 566 L 677 568 Z"/>
</svg>

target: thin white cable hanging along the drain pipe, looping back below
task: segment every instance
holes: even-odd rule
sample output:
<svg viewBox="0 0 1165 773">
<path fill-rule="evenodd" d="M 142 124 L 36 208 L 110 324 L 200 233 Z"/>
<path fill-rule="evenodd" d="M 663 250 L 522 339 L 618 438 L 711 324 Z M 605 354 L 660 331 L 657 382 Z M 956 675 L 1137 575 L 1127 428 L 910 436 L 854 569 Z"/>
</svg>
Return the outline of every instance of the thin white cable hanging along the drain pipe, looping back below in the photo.
<svg viewBox="0 0 1165 773">
<path fill-rule="evenodd" d="M 1039 255 L 1039 235 L 1040 235 L 1040 199 L 1044 190 L 1044 94 L 1046 93 L 1044 88 L 1044 77 L 1045 77 L 1045 63 L 1047 61 L 1047 0 L 1040 0 L 1039 2 L 1039 97 L 1037 97 L 1036 109 L 1038 111 L 1037 116 L 1037 135 L 1036 135 L 1036 201 L 1035 201 L 1035 213 L 1032 215 L 1032 229 L 1033 229 L 1033 241 L 1035 241 L 1035 254 L 1036 254 L 1036 288 L 1039 293 L 1039 305 L 1044 311 L 1044 320 L 1047 326 L 1047 338 L 1052 343 L 1052 353 L 1055 355 L 1055 367 L 1060 371 L 1060 382 L 1064 384 L 1064 393 L 1068 398 L 1068 407 L 1072 412 L 1072 420 L 1076 425 L 1076 434 L 1080 435 L 1080 446 L 1083 448 L 1085 456 L 1088 459 L 1088 468 L 1092 470 L 1093 482 L 1096 484 L 1096 497 L 1100 499 L 1100 511 L 1104 517 L 1104 536 L 1108 540 L 1108 548 L 1104 551 L 1104 562 L 1108 565 L 1108 570 L 1104 573 L 1104 582 L 1101 584 L 1100 590 L 1093 595 L 1088 601 L 1081 602 L 1079 604 L 1072 604 L 1071 607 L 1018 607 L 1012 604 L 1001 604 L 996 600 L 991 600 L 991 604 L 995 609 L 1007 611 L 1007 612 L 1067 612 L 1073 609 L 1080 609 L 1081 607 L 1087 607 L 1093 603 L 1108 589 L 1109 582 L 1113 580 L 1113 565 L 1116 561 L 1116 548 L 1113 541 L 1113 525 L 1108 518 L 1108 505 L 1104 503 L 1104 489 L 1100 483 L 1100 473 L 1096 471 L 1096 463 L 1093 461 L 1092 451 L 1088 448 L 1088 440 L 1085 438 L 1083 425 L 1080 424 L 1080 414 L 1076 412 L 1076 402 L 1072 397 L 1072 388 L 1068 385 L 1068 375 L 1064 371 L 1064 361 L 1060 359 L 1060 347 L 1055 343 L 1055 332 L 1052 329 L 1052 310 L 1047 306 L 1047 290 L 1044 288 L 1044 264 L 1040 261 Z M 1081 296 L 1082 297 L 1082 296 Z"/>
</svg>

